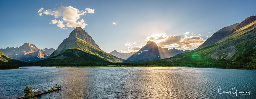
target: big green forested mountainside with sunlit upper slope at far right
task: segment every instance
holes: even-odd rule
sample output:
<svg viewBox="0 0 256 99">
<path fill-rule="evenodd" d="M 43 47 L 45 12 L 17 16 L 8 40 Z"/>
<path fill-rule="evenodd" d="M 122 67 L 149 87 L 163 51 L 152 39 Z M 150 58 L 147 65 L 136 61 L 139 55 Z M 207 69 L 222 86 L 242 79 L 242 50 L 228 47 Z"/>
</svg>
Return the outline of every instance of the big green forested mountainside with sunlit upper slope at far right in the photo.
<svg viewBox="0 0 256 99">
<path fill-rule="evenodd" d="M 256 69 L 256 16 L 246 18 L 214 44 L 149 63 L 189 67 Z"/>
</svg>

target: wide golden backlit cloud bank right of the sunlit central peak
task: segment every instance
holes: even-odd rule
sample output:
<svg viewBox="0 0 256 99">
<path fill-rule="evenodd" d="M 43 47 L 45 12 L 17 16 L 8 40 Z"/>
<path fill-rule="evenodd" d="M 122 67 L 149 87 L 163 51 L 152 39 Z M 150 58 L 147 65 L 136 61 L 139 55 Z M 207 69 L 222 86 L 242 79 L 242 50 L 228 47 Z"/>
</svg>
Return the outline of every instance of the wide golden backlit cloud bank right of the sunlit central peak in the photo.
<svg viewBox="0 0 256 99">
<path fill-rule="evenodd" d="M 161 34 L 161 36 L 158 36 Z M 180 35 L 167 35 L 166 33 L 156 33 L 146 38 L 146 41 L 154 41 L 158 46 L 164 48 L 191 49 L 197 48 L 206 40 L 199 36 L 188 36 L 189 32 L 184 33 L 184 37 Z M 155 36 L 155 37 L 154 37 Z"/>
</svg>

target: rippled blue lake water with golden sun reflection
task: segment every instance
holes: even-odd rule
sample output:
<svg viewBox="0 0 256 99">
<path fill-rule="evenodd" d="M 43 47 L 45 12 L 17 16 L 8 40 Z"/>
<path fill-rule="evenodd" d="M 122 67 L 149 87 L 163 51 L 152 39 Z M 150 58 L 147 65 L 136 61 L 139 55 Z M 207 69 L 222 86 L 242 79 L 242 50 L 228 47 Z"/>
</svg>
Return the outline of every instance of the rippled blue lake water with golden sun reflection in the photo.
<svg viewBox="0 0 256 99">
<path fill-rule="evenodd" d="M 208 68 L 52 68 L 0 70 L 0 97 L 24 95 L 25 85 L 62 90 L 39 99 L 102 98 L 256 98 L 256 70 Z M 221 86 L 221 90 L 219 90 Z M 222 93 L 247 91 L 250 95 Z M 222 93 L 222 94 L 220 94 Z"/>
</svg>

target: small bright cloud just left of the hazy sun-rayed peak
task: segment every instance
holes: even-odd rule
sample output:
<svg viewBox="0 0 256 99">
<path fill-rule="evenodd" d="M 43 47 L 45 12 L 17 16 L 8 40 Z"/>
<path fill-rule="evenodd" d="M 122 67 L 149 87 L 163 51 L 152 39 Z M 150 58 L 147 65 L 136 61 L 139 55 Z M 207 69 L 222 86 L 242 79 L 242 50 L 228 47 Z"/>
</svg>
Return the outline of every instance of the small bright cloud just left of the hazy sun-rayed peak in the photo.
<svg viewBox="0 0 256 99">
<path fill-rule="evenodd" d="M 137 52 L 137 51 L 139 51 L 143 46 L 145 46 L 145 45 L 141 45 L 141 46 L 134 46 L 134 44 L 136 44 L 136 42 L 127 42 L 127 43 L 125 43 L 124 44 L 124 46 L 128 46 L 127 47 L 127 51 L 122 51 L 122 50 L 120 50 L 120 51 L 118 51 L 118 52 L 120 52 L 120 53 L 131 53 L 131 52 Z"/>
</svg>

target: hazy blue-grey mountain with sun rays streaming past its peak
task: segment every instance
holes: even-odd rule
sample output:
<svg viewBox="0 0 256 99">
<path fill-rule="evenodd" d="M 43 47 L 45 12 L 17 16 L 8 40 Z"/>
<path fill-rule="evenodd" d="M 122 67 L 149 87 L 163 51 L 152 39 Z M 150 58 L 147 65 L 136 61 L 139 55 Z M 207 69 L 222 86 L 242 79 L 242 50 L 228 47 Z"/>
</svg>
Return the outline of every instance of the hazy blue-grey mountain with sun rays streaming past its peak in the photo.
<svg viewBox="0 0 256 99">
<path fill-rule="evenodd" d="M 160 46 L 158 47 L 157 44 L 153 41 L 148 41 L 144 47 L 142 47 L 138 52 L 130 56 L 127 60 L 134 62 L 160 60 L 184 52 L 188 51 L 181 51 L 175 48 L 168 50 L 167 48 L 161 48 Z"/>
</svg>

